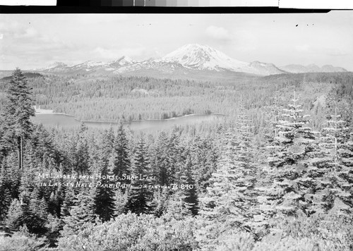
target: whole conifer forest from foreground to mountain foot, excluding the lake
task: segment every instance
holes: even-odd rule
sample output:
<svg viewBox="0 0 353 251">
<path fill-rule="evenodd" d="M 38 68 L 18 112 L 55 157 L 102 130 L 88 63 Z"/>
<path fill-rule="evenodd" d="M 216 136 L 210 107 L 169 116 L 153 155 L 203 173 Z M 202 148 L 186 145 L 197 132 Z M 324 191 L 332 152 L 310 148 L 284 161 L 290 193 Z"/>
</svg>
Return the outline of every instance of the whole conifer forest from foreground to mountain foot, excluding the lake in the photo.
<svg viewBox="0 0 353 251">
<path fill-rule="evenodd" d="M 46 128 L 221 113 L 152 134 Z M 353 250 L 353 74 L 0 81 L 0 250 Z"/>
</svg>

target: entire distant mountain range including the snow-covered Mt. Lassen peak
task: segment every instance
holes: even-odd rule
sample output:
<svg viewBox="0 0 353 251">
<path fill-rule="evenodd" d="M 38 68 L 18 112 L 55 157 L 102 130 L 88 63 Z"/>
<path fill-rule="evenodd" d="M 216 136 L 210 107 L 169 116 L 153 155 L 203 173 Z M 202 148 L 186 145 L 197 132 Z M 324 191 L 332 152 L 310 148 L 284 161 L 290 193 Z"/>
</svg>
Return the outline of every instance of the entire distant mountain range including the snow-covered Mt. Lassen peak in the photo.
<svg viewBox="0 0 353 251">
<path fill-rule="evenodd" d="M 57 62 L 47 68 L 35 69 L 43 73 L 97 73 L 124 75 L 199 75 L 245 73 L 249 75 L 274 75 L 281 73 L 340 72 L 345 68 L 316 65 L 288 65 L 277 67 L 273 63 L 244 62 L 200 44 L 186 44 L 161 59 L 134 61 L 123 56 L 109 63 L 86 61 L 69 66 Z"/>
</svg>

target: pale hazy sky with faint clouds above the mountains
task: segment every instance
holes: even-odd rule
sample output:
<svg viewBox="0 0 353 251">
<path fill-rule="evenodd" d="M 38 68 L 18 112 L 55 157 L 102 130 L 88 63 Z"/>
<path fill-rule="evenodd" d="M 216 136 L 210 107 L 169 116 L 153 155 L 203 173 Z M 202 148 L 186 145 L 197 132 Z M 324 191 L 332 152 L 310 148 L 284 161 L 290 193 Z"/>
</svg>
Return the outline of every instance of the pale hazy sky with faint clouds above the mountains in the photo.
<svg viewBox="0 0 353 251">
<path fill-rule="evenodd" d="M 206 44 L 241 61 L 353 71 L 353 11 L 327 14 L 0 15 L 0 69 L 158 58 Z"/>
</svg>

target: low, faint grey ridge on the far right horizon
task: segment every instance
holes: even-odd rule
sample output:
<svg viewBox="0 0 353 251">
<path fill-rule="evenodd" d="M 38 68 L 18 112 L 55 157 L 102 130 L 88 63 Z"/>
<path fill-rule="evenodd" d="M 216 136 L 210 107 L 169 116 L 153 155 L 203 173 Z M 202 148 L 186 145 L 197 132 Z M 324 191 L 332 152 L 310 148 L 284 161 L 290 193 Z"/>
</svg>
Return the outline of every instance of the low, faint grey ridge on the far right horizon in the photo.
<svg viewBox="0 0 353 251">
<path fill-rule="evenodd" d="M 342 67 L 335 67 L 331 65 L 325 65 L 322 67 L 316 66 L 316 64 L 309 64 L 308 66 L 302 66 L 300 64 L 289 64 L 287 66 L 280 67 L 283 71 L 289 73 L 335 73 L 347 71 Z"/>
</svg>

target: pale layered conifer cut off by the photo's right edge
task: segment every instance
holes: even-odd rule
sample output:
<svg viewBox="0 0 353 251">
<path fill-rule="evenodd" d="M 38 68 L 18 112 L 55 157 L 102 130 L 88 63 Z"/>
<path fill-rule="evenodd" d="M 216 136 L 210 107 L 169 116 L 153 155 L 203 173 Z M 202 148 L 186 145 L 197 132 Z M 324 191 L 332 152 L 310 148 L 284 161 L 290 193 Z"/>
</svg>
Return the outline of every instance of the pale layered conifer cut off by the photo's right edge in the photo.
<svg viewBox="0 0 353 251">
<path fill-rule="evenodd" d="M 337 110 L 323 127 L 321 147 L 324 154 L 318 163 L 323 175 L 318 186 L 324 195 L 323 209 L 349 214 L 353 210 L 353 143 Z"/>
</svg>

